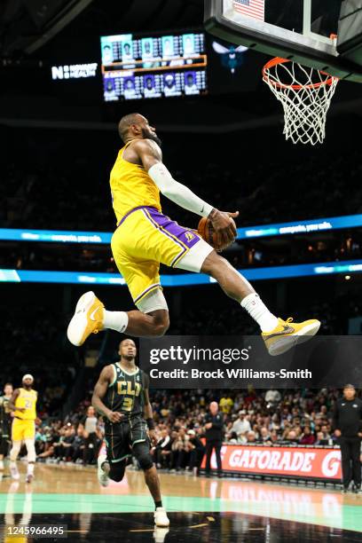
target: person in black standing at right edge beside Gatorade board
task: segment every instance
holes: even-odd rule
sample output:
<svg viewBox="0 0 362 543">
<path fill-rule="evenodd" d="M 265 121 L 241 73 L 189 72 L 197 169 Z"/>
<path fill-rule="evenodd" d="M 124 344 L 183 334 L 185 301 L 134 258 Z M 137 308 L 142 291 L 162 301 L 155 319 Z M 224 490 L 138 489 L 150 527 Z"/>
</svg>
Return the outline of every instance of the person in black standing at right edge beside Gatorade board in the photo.
<svg viewBox="0 0 362 543">
<path fill-rule="evenodd" d="M 347 492 L 353 479 L 353 492 L 361 488 L 361 462 L 359 460 L 362 438 L 362 401 L 356 389 L 347 384 L 343 397 L 337 400 L 333 416 L 334 435 L 339 437 L 342 457 L 343 492 Z"/>
</svg>

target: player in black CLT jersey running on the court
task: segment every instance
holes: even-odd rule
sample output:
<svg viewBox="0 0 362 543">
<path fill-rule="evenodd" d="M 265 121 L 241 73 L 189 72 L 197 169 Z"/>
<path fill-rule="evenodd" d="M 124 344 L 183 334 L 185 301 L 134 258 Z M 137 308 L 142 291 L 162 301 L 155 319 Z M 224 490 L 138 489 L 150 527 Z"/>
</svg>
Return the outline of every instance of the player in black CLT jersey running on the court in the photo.
<svg viewBox="0 0 362 543">
<path fill-rule="evenodd" d="M 135 364 L 136 344 L 131 339 L 120 343 L 121 359 L 105 366 L 94 388 L 92 405 L 106 420 L 106 454 L 98 456 L 99 483 L 122 481 L 127 459 L 134 456 L 145 473 L 152 494 L 156 526 L 169 526 L 162 507 L 160 480 L 150 454 L 149 439 L 157 441 L 152 406 L 148 396 L 149 378 Z"/>
</svg>

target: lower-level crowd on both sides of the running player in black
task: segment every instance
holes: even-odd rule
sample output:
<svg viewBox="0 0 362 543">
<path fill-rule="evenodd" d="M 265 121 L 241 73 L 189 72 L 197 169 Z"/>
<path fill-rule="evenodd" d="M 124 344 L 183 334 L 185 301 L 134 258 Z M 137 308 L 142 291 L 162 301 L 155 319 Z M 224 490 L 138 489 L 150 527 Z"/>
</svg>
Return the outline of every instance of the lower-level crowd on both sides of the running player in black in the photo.
<svg viewBox="0 0 362 543">
<path fill-rule="evenodd" d="M 233 445 L 336 445 L 333 412 L 338 390 L 151 390 L 158 436 L 158 468 L 199 472 L 205 453 L 204 420 L 216 400 L 224 417 L 224 443 Z M 104 420 L 91 391 L 65 419 L 43 421 L 36 431 L 38 461 L 95 464 Z"/>
</svg>

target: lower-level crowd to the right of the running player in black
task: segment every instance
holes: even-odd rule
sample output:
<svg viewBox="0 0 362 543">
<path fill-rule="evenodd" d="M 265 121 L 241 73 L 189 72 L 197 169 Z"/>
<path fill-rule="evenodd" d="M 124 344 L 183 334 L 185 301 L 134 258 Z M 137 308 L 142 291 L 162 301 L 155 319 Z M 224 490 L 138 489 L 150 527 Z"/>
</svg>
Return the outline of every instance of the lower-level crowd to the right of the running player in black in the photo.
<svg viewBox="0 0 362 543">
<path fill-rule="evenodd" d="M 161 435 L 156 454 L 170 469 L 193 468 L 201 449 L 209 402 L 224 413 L 224 442 L 240 445 L 334 445 L 332 429 L 336 390 L 183 390 L 153 395 Z M 166 451 L 168 453 L 166 453 Z"/>
</svg>

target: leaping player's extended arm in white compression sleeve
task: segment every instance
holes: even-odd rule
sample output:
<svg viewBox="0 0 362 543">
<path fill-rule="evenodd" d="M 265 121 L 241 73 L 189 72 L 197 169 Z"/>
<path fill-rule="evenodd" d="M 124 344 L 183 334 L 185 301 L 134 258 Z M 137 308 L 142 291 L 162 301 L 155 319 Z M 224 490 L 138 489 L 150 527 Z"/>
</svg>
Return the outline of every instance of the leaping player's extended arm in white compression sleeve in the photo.
<svg viewBox="0 0 362 543">
<path fill-rule="evenodd" d="M 208 202 L 201 200 L 187 186 L 178 183 L 166 166 L 162 163 L 161 148 L 151 139 L 140 139 L 134 144 L 133 149 L 138 153 L 138 158 L 148 175 L 158 186 L 160 192 L 175 202 L 181 208 L 192 211 L 196 215 L 209 217 L 216 232 L 221 232 L 224 240 L 233 240 L 236 236 L 236 226 L 232 217 L 239 212 L 226 213 L 213 208 Z"/>
</svg>

